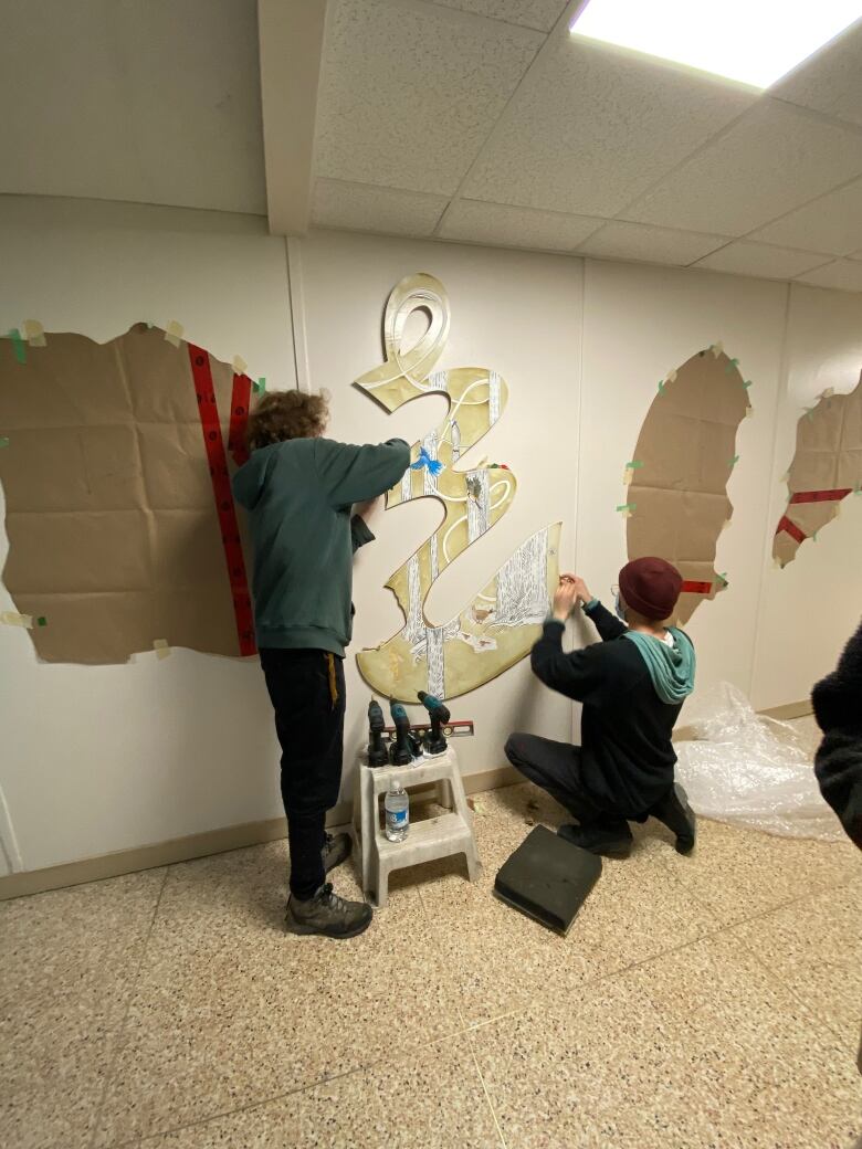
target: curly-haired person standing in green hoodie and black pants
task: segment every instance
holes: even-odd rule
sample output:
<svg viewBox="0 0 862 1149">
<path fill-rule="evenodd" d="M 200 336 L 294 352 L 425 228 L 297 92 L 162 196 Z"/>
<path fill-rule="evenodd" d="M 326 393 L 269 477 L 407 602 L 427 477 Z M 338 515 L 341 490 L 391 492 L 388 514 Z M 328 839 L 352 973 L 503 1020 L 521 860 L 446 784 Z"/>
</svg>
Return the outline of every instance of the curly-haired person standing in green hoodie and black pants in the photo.
<svg viewBox="0 0 862 1149">
<path fill-rule="evenodd" d="M 282 799 L 291 856 L 291 933 L 354 938 L 371 924 L 364 902 L 325 880 L 351 854 L 326 834 L 338 801 L 345 717 L 345 647 L 353 629 L 352 560 L 374 539 L 354 503 L 397 484 L 410 463 L 401 439 L 356 447 L 324 439 L 322 395 L 265 395 L 248 418 L 251 457 L 233 477 L 248 511 L 255 632 L 282 747 Z"/>
</svg>

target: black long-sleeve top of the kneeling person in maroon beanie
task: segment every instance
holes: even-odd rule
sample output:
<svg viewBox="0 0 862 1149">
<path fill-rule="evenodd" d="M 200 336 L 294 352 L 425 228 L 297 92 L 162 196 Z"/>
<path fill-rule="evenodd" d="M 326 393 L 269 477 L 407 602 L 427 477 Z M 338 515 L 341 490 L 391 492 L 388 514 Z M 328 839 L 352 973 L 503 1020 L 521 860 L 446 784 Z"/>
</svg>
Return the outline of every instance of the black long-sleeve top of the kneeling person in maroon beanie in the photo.
<svg viewBox="0 0 862 1149">
<path fill-rule="evenodd" d="M 562 648 L 564 626 L 548 619 L 532 649 L 533 672 L 554 691 L 583 703 L 582 782 L 597 804 L 637 818 L 674 784 L 671 732 L 682 704 L 662 702 L 626 626 L 595 603 L 585 614 L 602 639 L 583 650 Z"/>
</svg>

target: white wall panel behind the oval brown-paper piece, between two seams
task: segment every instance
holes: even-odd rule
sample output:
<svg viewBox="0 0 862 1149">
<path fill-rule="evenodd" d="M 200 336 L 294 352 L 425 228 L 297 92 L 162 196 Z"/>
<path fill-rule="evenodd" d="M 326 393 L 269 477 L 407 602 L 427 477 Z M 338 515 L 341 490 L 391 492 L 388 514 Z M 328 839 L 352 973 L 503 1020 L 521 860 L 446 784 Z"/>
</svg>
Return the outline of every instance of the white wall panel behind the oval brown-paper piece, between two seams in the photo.
<svg viewBox="0 0 862 1149">
<path fill-rule="evenodd" d="M 625 502 L 623 469 L 659 380 L 717 341 L 753 380 L 754 414 L 739 427 L 728 485 L 733 516 L 716 554 L 730 585 L 686 627 L 699 654 L 699 691 L 721 680 L 746 694 L 752 687 L 786 294 L 784 284 L 705 271 L 592 261 L 586 268 L 577 530 L 578 562 L 594 594 L 607 600 L 626 558 L 625 524 L 614 508 Z"/>
</svg>

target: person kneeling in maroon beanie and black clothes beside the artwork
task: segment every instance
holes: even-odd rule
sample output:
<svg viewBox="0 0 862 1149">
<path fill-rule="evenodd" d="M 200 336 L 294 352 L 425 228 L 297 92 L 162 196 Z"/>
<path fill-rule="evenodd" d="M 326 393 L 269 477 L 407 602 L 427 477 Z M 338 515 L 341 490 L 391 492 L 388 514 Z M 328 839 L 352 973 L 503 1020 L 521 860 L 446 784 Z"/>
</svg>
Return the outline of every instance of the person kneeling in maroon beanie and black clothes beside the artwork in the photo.
<svg viewBox="0 0 862 1149">
<path fill-rule="evenodd" d="M 607 857 L 628 857 L 629 822 L 652 816 L 676 835 L 680 854 L 694 847 L 694 815 L 674 782 L 674 724 L 694 688 L 694 647 L 665 626 L 682 589 L 663 558 L 636 558 L 619 571 L 615 617 L 576 574 L 563 574 L 552 616 L 532 649 L 533 673 L 583 703 L 582 745 L 511 734 L 509 762 L 556 799 L 579 825 L 562 838 Z M 580 602 L 601 642 L 567 654 L 565 622 Z"/>
</svg>

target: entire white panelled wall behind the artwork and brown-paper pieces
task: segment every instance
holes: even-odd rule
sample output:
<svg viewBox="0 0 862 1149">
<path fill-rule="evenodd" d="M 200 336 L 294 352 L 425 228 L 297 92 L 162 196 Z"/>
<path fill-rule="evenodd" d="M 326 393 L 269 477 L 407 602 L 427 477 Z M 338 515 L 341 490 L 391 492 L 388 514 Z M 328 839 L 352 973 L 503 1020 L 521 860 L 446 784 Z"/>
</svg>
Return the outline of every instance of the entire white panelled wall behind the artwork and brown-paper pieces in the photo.
<svg viewBox="0 0 862 1149">
<path fill-rule="evenodd" d="M 179 319 L 221 358 L 241 354 L 270 388 L 295 383 L 285 246 L 257 219 L 7 198 L 0 245 L 2 330 L 38 318 L 46 330 L 107 340 L 138 319 Z M 755 414 L 740 429 L 733 523 L 718 548 L 730 587 L 691 624 L 701 683 L 729 678 L 770 705 L 805 697 L 830 668 L 862 607 L 862 500 L 848 500 L 785 571 L 768 555 L 800 408 L 824 386 L 846 390 L 862 367 L 862 298 L 347 234 L 316 234 L 293 250 L 293 303 L 306 316 L 297 354 L 300 363 L 307 355 L 310 384 L 332 393 L 333 435 L 411 441 L 442 416 L 441 398 L 387 415 L 351 386 L 382 362 L 386 298 L 415 271 L 438 276 L 449 293 L 440 365 L 494 368 L 509 384 L 508 408 L 472 456 L 508 463 L 517 498 L 439 580 L 433 620 L 461 609 L 524 538 L 557 519 L 561 563 L 606 595 L 625 558 L 614 511 L 621 472 L 657 380 L 721 339 L 754 380 Z M 354 653 L 400 629 L 384 583 L 439 515 L 430 500 L 376 515 L 377 542 L 356 562 Z M 0 562 L 5 552 L 0 533 Z M 0 610 L 11 606 L 0 588 Z M 349 763 L 369 691 L 352 657 L 347 676 Z M 278 750 L 254 661 L 174 650 L 125 666 L 40 665 L 26 634 L 2 627 L 0 681 L 0 784 L 28 869 L 280 812 Z M 476 722 L 476 738 L 459 743 L 468 773 L 502 765 L 515 727 L 561 739 L 571 728 L 571 708 L 532 679 L 526 661 L 452 709 Z"/>
</svg>

